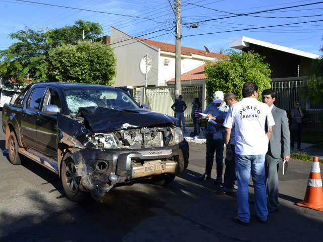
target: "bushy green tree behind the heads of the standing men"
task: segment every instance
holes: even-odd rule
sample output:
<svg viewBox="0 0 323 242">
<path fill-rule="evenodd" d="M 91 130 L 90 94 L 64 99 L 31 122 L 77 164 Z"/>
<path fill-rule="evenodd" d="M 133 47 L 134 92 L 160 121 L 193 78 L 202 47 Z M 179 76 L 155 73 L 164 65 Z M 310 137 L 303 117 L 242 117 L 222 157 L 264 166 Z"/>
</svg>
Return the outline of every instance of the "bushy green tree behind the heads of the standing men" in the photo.
<svg viewBox="0 0 323 242">
<path fill-rule="evenodd" d="M 242 87 L 246 82 L 255 82 L 259 93 L 271 87 L 271 70 L 264 58 L 254 52 L 228 51 L 228 57 L 218 63 L 208 63 L 206 75 L 206 101 L 213 100 L 213 93 L 221 90 L 224 93 L 233 92 L 238 99 L 242 98 Z M 260 97 L 259 97 L 260 98 Z"/>
</svg>

